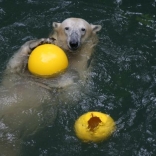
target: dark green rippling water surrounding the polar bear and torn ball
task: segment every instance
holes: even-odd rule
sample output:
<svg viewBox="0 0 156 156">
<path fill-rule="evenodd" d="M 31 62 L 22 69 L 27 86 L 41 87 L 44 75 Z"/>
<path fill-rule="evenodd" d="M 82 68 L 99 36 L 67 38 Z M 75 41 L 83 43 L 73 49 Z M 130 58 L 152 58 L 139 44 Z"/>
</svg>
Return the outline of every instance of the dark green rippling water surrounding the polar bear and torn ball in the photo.
<svg viewBox="0 0 156 156">
<path fill-rule="evenodd" d="M 61 111 L 54 124 L 24 140 L 21 155 L 154 156 L 154 0 L 0 0 L 0 74 L 24 42 L 47 37 L 53 21 L 68 17 L 103 26 L 90 90 L 74 108 Z M 110 114 L 116 121 L 117 131 L 109 140 L 86 144 L 75 136 L 75 120 L 91 110 Z"/>
</svg>

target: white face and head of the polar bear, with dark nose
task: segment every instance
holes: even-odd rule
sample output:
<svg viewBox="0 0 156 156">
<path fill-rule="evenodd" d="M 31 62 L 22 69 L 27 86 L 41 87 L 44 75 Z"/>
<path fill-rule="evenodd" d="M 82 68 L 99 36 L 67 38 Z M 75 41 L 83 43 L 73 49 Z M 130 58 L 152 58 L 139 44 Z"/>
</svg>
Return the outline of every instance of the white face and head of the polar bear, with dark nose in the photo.
<svg viewBox="0 0 156 156">
<path fill-rule="evenodd" d="M 64 50 L 76 52 L 101 29 L 81 18 L 68 18 L 62 23 L 53 23 L 56 44 Z"/>
</svg>

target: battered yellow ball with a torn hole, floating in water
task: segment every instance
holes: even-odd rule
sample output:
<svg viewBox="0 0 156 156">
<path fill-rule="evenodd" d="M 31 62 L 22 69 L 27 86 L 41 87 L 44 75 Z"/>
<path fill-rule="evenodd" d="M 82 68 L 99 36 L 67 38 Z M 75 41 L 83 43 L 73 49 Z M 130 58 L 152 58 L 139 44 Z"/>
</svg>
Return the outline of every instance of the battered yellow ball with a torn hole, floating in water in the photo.
<svg viewBox="0 0 156 156">
<path fill-rule="evenodd" d="M 84 142 L 106 140 L 116 129 L 114 120 L 101 112 L 88 112 L 75 122 L 75 132 Z"/>
</svg>

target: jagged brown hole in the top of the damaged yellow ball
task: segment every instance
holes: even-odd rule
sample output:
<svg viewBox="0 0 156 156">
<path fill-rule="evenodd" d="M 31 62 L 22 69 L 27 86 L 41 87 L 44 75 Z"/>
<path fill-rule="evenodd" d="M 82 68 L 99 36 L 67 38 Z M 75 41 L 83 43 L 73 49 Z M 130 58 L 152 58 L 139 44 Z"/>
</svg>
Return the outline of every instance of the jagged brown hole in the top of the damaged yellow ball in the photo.
<svg viewBox="0 0 156 156">
<path fill-rule="evenodd" d="M 96 128 L 101 122 L 102 121 L 100 120 L 99 117 L 93 116 L 92 114 L 92 117 L 88 120 L 88 129 L 90 131 L 94 131 L 94 128 Z"/>
</svg>

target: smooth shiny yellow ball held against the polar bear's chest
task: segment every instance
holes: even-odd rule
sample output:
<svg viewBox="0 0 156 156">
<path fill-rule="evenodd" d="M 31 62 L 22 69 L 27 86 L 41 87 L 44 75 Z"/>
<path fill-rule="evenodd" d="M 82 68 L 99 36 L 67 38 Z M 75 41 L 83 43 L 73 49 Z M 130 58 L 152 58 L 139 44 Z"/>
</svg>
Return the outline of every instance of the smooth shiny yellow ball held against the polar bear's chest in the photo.
<svg viewBox="0 0 156 156">
<path fill-rule="evenodd" d="M 35 48 L 28 59 L 29 71 L 38 76 L 55 76 L 68 67 L 64 51 L 56 45 L 44 44 Z"/>
</svg>

